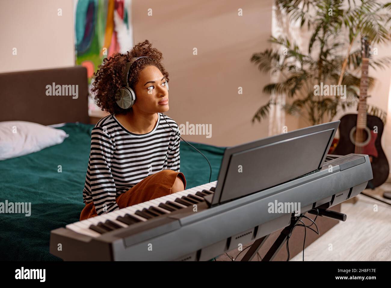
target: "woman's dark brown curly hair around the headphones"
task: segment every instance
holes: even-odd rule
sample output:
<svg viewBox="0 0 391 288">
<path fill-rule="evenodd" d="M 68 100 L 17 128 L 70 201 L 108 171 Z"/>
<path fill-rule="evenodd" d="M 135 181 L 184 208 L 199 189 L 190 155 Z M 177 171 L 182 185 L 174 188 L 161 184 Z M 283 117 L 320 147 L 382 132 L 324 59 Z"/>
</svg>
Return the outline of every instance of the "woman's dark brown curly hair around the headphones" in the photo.
<svg viewBox="0 0 391 288">
<path fill-rule="evenodd" d="M 161 74 L 169 82 L 169 73 L 161 63 L 162 55 L 158 49 L 152 48 L 152 44 L 148 40 L 145 40 L 136 44 L 126 54 L 115 53 L 109 58 L 104 58 L 102 64 L 98 66 L 98 71 L 94 72 L 93 76 L 95 77 L 91 84 L 91 92 L 98 107 L 110 114 L 125 114 L 132 109 L 119 107 L 115 99 L 115 93 L 122 87 L 122 74 L 126 68 L 126 63 L 130 62 L 133 57 L 150 57 L 141 58 L 133 63 L 128 78 L 129 87 L 133 90 L 138 82 L 140 72 L 147 66 L 155 66 L 160 69 Z"/>
</svg>

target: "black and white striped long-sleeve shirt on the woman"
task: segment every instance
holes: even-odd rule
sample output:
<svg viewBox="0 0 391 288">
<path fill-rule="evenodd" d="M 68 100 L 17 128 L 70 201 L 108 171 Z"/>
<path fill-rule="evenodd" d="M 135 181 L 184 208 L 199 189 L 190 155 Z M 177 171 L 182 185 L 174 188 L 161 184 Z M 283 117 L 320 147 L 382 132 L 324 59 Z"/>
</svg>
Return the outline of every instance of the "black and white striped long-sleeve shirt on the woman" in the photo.
<svg viewBox="0 0 391 288">
<path fill-rule="evenodd" d="M 178 124 L 164 115 L 174 132 L 162 113 L 158 115 L 156 126 L 147 134 L 129 132 L 114 114 L 92 129 L 83 199 L 94 202 L 98 215 L 118 210 L 115 198 L 145 177 L 166 169 L 179 172 Z"/>
</svg>

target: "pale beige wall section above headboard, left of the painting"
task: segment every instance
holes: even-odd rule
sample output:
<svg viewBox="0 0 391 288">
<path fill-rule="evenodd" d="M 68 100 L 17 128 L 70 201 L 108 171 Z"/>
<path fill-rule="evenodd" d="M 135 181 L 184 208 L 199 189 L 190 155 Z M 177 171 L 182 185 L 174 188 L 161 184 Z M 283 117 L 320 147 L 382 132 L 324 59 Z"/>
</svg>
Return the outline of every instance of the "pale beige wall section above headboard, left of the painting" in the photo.
<svg viewBox="0 0 391 288">
<path fill-rule="evenodd" d="M 72 0 L 2 1 L 0 19 L 0 72 L 74 65 Z"/>
</svg>

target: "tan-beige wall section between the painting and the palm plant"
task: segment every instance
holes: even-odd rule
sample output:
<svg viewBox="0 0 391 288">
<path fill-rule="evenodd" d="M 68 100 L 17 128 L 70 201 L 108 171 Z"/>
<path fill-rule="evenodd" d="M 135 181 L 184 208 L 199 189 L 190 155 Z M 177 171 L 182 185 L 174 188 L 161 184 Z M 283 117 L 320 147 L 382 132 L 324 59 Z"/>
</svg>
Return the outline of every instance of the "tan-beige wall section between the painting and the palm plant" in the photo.
<svg viewBox="0 0 391 288">
<path fill-rule="evenodd" d="M 170 5 L 167 5 L 169 3 Z M 148 39 L 170 74 L 170 110 L 178 124 L 212 124 L 212 138 L 187 141 L 231 146 L 267 136 L 267 120 L 251 125 L 267 101 L 269 76 L 249 62 L 270 44 L 272 1 L 133 2 L 134 43 Z M 147 10 L 152 8 L 152 16 Z M 243 16 L 238 16 L 238 9 Z M 197 55 L 193 55 L 193 48 Z M 243 94 L 238 94 L 243 87 Z"/>
</svg>

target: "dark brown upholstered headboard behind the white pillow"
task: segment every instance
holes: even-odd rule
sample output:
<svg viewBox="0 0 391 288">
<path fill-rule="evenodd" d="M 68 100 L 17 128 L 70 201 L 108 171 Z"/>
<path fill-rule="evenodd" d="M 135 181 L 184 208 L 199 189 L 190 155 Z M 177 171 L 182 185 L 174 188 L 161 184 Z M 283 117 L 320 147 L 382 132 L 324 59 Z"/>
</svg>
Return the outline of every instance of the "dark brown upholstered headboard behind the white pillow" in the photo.
<svg viewBox="0 0 391 288">
<path fill-rule="evenodd" d="M 0 95 L 0 121 L 90 123 L 87 69 L 82 66 L 1 73 Z"/>
</svg>

